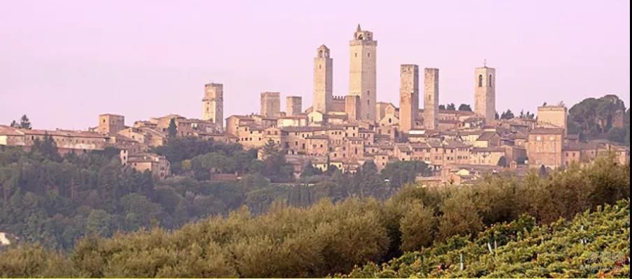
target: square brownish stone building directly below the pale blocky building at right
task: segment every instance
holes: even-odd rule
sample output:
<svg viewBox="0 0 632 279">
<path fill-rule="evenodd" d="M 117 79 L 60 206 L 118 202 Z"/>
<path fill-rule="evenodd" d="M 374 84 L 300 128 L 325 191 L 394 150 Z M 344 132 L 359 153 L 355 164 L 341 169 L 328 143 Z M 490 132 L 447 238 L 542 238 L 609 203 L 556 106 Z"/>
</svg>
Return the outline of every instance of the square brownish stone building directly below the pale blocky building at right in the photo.
<svg viewBox="0 0 632 279">
<path fill-rule="evenodd" d="M 529 167 L 556 168 L 562 165 L 564 130 L 561 128 L 536 128 L 529 132 L 526 156 Z"/>
</svg>

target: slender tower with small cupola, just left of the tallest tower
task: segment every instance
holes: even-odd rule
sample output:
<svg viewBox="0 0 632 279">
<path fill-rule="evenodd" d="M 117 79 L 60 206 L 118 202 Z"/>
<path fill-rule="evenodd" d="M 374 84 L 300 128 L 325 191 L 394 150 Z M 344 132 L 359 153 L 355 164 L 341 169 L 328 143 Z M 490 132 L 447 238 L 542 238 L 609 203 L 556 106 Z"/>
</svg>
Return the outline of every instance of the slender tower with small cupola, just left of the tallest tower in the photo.
<svg viewBox="0 0 632 279">
<path fill-rule="evenodd" d="M 329 48 L 318 47 L 314 58 L 314 105 L 313 111 L 326 113 L 331 110 L 333 99 L 333 59 Z"/>
</svg>

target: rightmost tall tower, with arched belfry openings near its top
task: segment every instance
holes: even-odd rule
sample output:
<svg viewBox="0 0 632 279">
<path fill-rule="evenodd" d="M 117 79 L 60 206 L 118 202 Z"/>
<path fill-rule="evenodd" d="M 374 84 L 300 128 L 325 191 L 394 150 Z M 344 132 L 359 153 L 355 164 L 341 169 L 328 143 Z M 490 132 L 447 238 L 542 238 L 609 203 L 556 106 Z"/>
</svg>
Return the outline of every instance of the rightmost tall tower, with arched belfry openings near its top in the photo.
<svg viewBox="0 0 632 279">
<path fill-rule="evenodd" d="M 485 123 L 496 120 L 496 69 L 482 66 L 474 70 L 474 112 L 484 116 Z"/>
</svg>

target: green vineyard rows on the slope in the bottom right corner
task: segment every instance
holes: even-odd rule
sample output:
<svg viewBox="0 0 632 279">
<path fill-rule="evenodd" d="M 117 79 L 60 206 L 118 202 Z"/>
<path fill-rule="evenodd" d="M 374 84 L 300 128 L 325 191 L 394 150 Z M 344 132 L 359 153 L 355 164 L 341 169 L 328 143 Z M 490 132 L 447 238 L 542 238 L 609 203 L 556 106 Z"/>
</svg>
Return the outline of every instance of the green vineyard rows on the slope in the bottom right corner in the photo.
<svg viewBox="0 0 632 279">
<path fill-rule="evenodd" d="M 523 216 L 493 226 L 473 241 L 454 236 L 343 277 L 629 278 L 629 216 L 629 200 L 550 225 L 536 226 L 533 218 Z"/>
</svg>

